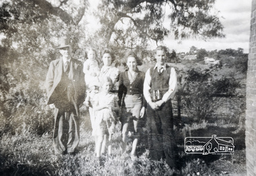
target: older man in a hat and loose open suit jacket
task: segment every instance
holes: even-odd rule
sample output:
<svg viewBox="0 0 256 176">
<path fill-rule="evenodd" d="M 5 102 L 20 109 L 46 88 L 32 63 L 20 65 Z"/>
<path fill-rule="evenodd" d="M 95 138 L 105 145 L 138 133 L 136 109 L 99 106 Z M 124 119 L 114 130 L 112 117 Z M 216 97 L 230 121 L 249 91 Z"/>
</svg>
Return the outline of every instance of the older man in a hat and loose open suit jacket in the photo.
<svg viewBox="0 0 256 176">
<path fill-rule="evenodd" d="M 72 154 L 79 142 L 79 105 L 84 102 L 86 84 L 82 64 L 71 58 L 71 46 L 60 41 L 61 58 L 50 63 L 46 75 L 47 104 L 55 105 L 55 153 Z"/>
</svg>

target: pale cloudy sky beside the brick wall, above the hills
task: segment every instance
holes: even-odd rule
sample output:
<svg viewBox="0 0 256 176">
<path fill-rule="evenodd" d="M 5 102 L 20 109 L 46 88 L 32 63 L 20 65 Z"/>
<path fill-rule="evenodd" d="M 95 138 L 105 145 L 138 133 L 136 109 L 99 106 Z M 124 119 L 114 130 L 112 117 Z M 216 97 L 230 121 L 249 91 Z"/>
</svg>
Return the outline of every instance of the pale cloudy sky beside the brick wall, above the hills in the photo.
<svg viewBox="0 0 256 176">
<path fill-rule="evenodd" d="M 220 11 L 220 21 L 224 26 L 226 38 L 215 38 L 207 40 L 187 39 L 181 44 L 172 37 L 164 40 L 168 48 L 176 52 L 188 52 L 191 46 L 204 48 L 205 50 L 225 50 L 226 48 L 243 48 L 245 53 L 249 52 L 249 35 L 251 19 L 251 0 L 216 0 L 214 7 Z"/>
</svg>

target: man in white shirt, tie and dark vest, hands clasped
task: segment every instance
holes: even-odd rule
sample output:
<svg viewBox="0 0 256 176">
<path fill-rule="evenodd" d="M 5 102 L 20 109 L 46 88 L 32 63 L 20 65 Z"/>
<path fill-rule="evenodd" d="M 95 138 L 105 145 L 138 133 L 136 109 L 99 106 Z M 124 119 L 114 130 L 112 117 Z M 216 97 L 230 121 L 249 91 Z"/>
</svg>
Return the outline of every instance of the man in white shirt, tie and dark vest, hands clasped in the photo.
<svg viewBox="0 0 256 176">
<path fill-rule="evenodd" d="M 143 95 L 147 105 L 149 157 L 159 161 L 166 159 L 170 168 L 174 163 L 174 136 L 172 103 L 170 99 L 177 89 L 177 74 L 166 64 L 166 48 L 155 51 L 156 65 L 146 72 Z"/>
</svg>

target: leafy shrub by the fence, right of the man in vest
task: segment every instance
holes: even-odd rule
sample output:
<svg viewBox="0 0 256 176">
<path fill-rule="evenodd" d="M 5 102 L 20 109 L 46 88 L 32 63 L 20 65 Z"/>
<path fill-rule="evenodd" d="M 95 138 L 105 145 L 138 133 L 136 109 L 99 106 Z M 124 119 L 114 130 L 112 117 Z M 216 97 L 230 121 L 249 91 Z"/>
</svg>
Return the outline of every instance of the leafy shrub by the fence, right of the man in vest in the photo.
<svg viewBox="0 0 256 176">
<path fill-rule="evenodd" d="M 214 69 L 201 70 L 190 69 L 181 73 L 178 95 L 182 97 L 184 112 L 192 117 L 194 122 L 210 120 L 212 114 L 224 105 L 230 109 L 238 108 L 241 102 L 236 102 L 232 97 L 238 95 L 238 88 L 241 88 L 239 81 L 233 77 L 213 78 Z M 226 97 L 223 99 L 220 97 Z"/>
</svg>

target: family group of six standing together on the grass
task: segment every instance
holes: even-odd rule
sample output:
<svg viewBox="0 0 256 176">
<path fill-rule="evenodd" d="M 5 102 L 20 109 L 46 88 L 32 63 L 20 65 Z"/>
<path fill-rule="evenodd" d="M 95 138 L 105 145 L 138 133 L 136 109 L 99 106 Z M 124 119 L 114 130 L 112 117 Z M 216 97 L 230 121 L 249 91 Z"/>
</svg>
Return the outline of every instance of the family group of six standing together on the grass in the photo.
<svg viewBox="0 0 256 176">
<path fill-rule="evenodd" d="M 102 155 L 112 155 L 112 136 L 118 121 L 123 152 L 132 137 L 131 158 L 135 158 L 141 135 L 138 124 L 147 114 L 150 159 L 165 159 L 170 167 L 175 167 L 170 100 L 177 89 L 177 73 L 165 62 L 166 48 L 156 48 L 156 65 L 146 74 L 138 70 L 142 62 L 134 52 L 127 53 L 127 69 L 120 73 L 112 66 L 114 56 L 110 50 L 102 52 L 101 61 L 96 50 L 89 48 L 88 59 L 82 65 L 71 58 L 69 44 L 58 48 L 61 58 L 51 62 L 46 75 L 47 103 L 55 105 L 55 153 L 75 152 L 79 143 L 79 107 L 84 103 L 89 109 L 99 162 Z"/>
</svg>

